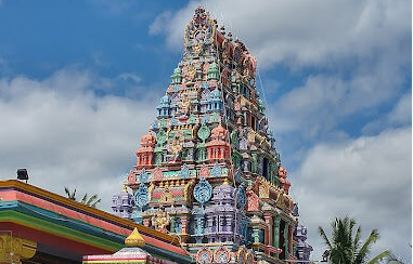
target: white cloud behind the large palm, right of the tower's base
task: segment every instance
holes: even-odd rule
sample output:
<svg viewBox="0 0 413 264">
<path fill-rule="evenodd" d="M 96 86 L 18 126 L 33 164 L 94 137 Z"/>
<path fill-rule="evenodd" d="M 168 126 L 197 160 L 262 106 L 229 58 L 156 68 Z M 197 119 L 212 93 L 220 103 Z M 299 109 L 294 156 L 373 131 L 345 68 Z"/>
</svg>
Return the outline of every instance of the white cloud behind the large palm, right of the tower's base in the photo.
<svg viewBox="0 0 413 264">
<path fill-rule="evenodd" d="M 362 225 L 364 238 L 378 228 L 382 238 L 373 253 L 390 249 L 410 259 L 411 146 L 412 131 L 405 128 L 310 149 L 289 177 L 301 222 L 309 227 L 309 242 L 315 248 L 313 259 L 324 248 L 317 227 L 328 228 L 331 220 L 344 215 Z"/>
</svg>

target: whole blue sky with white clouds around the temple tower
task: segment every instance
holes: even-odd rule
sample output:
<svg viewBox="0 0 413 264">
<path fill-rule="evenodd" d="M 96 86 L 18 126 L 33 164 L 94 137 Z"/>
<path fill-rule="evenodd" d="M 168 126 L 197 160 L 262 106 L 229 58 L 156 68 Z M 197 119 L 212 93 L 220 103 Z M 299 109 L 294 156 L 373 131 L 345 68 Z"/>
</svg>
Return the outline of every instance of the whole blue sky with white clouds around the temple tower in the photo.
<svg viewBox="0 0 413 264">
<path fill-rule="evenodd" d="M 257 90 L 313 260 L 349 215 L 412 262 L 409 0 L 0 0 L 0 180 L 111 197 L 202 4 L 258 61 Z"/>
</svg>

